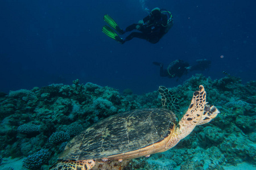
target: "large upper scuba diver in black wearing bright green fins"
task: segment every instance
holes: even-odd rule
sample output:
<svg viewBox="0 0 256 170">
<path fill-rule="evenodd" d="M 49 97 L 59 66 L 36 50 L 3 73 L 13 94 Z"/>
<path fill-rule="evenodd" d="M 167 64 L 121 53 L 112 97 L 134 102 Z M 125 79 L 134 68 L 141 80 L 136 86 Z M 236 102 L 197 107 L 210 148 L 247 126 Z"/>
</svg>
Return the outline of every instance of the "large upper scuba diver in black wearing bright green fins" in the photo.
<svg viewBox="0 0 256 170">
<path fill-rule="evenodd" d="M 140 31 L 131 32 L 129 36 L 127 36 L 125 39 L 122 39 L 112 28 L 110 28 L 108 25 L 104 25 L 102 32 L 104 32 L 107 36 L 111 37 L 115 41 L 118 41 L 120 44 L 123 44 L 126 41 L 130 41 L 134 37 L 144 39 L 148 42 L 151 42 L 152 44 L 155 44 L 169 31 L 173 25 L 171 12 L 167 10 L 160 10 L 158 7 L 152 9 L 150 15 L 146 16 L 142 20 L 139 20 L 137 24 L 131 24 L 125 30 L 121 29 L 117 23 L 115 23 L 115 21 L 107 14 L 104 15 L 104 20 L 120 35 L 133 31 L 134 29 Z"/>
</svg>

